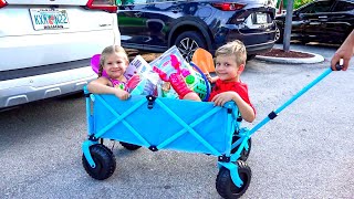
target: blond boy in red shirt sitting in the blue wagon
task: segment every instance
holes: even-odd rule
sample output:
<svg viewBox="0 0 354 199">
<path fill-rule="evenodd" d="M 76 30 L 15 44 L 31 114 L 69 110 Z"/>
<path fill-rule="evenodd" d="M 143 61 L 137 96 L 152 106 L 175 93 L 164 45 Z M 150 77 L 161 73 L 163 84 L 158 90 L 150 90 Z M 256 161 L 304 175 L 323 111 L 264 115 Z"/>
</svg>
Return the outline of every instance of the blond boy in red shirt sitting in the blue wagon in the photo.
<svg viewBox="0 0 354 199">
<path fill-rule="evenodd" d="M 216 53 L 217 77 L 209 81 L 215 82 L 210 93 L 209 102 L 222 106 L 229 101 L 235 101 L 244 121 L 251 123 L 256 118 L 256 109 L 248 96 L 247 84 L 240 81 L 244 70 L 247 52 L 243 43 L 239 40 L 220 46 Z"/>
</svg>

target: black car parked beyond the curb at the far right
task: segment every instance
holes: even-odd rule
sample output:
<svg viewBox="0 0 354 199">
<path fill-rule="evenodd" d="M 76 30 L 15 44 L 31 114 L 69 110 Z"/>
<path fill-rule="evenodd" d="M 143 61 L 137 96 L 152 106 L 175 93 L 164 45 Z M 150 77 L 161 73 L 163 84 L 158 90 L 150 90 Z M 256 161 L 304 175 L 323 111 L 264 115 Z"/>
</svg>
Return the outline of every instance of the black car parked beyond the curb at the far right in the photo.
<svg viewBox="0 0 354 199">
<path fill-rule="evenodd" d="M 275 17 L 277 42 L 283 41 L 285 14 Z M 291 38 L 306 42 L 342 43 L 354 28 L 354 0 L 320 0 L 293 12 Z"/>
</svg>

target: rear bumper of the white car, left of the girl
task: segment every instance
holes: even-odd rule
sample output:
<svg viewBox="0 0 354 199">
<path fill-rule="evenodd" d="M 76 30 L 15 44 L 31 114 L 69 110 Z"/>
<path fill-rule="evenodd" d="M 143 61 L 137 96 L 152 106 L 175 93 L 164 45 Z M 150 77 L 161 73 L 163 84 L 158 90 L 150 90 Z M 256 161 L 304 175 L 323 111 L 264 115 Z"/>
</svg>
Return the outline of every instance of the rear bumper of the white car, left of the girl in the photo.
<svg viewBox="0 0 354 199">
<path fill-rule="evenodd" d="M 0 82 L 0 108 L 79 92 L 97 75 L 91 66 Z"/>
</svg>

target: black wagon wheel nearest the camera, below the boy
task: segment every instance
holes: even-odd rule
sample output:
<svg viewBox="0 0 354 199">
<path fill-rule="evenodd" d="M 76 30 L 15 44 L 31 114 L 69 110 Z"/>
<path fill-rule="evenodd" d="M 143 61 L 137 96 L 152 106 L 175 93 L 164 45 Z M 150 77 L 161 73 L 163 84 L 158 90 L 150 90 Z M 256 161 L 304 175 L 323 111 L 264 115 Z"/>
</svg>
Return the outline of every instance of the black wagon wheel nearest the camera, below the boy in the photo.
<svg viewBox="0 0 354 199">
<path fill-rule="evenodd" d="M 231 180 L 230 170 L 221 167 L 217 176 L 216 188 L 218 193 L 222 198 L 240 198 L 246 192 L 248 186 L 251 182 L 251 168 L 241 160 L 236 161 L 236 164 L 238 166 L 238 172 L 241 180 L 243 181 L 243 185 L 241 187 L 237 187 Z"/>
</svg>

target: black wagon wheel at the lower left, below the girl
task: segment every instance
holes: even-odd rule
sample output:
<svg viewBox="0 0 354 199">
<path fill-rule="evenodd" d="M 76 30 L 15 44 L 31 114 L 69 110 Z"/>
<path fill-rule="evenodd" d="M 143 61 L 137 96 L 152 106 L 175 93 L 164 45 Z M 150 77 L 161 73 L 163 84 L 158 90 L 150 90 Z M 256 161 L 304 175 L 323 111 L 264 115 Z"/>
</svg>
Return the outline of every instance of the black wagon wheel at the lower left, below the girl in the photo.
<svg viewBox="0 0 354 199">
<path fill-rule="evenodd" d="M 90 153 L 93 160 L 96 164 L 95 168 L 92 168 L 86 160 L 85 156 L 82 156 L 82 164 L 86 172 L 94 179 L 104 180 L 110 178 L 116 167 L 115 157 L 113 153 L 104 145 L 96 144 L 90 147 Z"/>
</svg>

